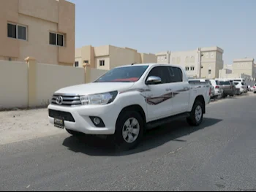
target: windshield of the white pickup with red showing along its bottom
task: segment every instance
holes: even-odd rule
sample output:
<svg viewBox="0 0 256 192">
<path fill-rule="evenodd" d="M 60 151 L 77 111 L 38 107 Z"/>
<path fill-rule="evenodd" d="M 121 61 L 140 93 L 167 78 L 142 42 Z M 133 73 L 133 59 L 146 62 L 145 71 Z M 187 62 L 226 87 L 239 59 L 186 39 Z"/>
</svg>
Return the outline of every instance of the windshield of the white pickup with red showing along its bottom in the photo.
<svg viewBox="0 0 256 192">
<path fill-rule="evenodd" d="M 124 66 L 111 69 L 94 82 L 136 82 L 148 69 L 148 66 Z"/>
</svg>

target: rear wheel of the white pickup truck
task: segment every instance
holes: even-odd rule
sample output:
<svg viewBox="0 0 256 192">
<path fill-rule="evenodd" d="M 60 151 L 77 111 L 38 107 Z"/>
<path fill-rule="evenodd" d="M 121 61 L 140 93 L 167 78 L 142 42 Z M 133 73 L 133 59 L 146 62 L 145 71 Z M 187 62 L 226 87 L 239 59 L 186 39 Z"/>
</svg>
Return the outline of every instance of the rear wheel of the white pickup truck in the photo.
<svg viewBox="0 0 256 192">
<path fill-rule="evenodd" d="M 203 104 L 201 101 L 197 100 L 195 101 L 192 111 L 190 112 L 190 117 L 187 118 L 187 123 L 189 123 L 190 126 L 199 126 L 202 123 L 202 121 L 203 121 Z"/>
</svg>

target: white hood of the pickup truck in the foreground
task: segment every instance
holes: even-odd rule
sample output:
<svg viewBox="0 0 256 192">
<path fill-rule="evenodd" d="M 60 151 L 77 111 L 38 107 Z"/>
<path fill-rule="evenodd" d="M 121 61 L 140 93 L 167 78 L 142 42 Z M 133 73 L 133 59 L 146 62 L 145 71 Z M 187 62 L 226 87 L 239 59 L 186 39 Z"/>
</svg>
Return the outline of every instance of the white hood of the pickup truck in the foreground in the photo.
<svg viewBox="0 0 256 192">
<path fill-rule="evenodd" d="M 87 84 L 61 88 L 55 93 L 68 93 L 78 95 L 107 93 L 110 91 L 124 91 L 128 88 L 131 88 L 132 85 L 134 85 L 134 82 L 91 82 Z"/>
</svg>

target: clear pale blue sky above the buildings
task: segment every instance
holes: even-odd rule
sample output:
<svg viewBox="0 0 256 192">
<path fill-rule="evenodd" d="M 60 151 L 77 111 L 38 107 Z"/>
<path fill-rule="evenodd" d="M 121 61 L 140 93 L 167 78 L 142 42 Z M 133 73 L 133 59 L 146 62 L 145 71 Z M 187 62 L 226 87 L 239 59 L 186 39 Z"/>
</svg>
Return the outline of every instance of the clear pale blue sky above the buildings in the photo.
<svg viewBox="0 0 256 192">
<path fill-rule="evenodd" d="M 256 59 L 256 0 L 69 0 L 75 47 L 114 45 L 142 53 L 218 46 L 224 63 Z"/>
</svg>

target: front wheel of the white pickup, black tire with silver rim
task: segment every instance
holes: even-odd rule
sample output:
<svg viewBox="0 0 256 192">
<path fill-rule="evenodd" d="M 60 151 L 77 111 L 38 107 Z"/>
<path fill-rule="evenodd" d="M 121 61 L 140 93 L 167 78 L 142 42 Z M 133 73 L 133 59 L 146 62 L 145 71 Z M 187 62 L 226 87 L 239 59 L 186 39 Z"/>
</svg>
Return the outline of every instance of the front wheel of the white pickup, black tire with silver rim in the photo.
<svg viewBox="0 0 256 192">
<path fill-rule="evenodd" d="M 132 123 L 135 125 L 132 125 Z M 134 149 L 140 144 L 143 134 L 144 122 L 138 112 L 125 111 L 119 115 L 116 121 L 116 132 L 114 135 L 115 144 L 119 149 Z"/>
</svg>

